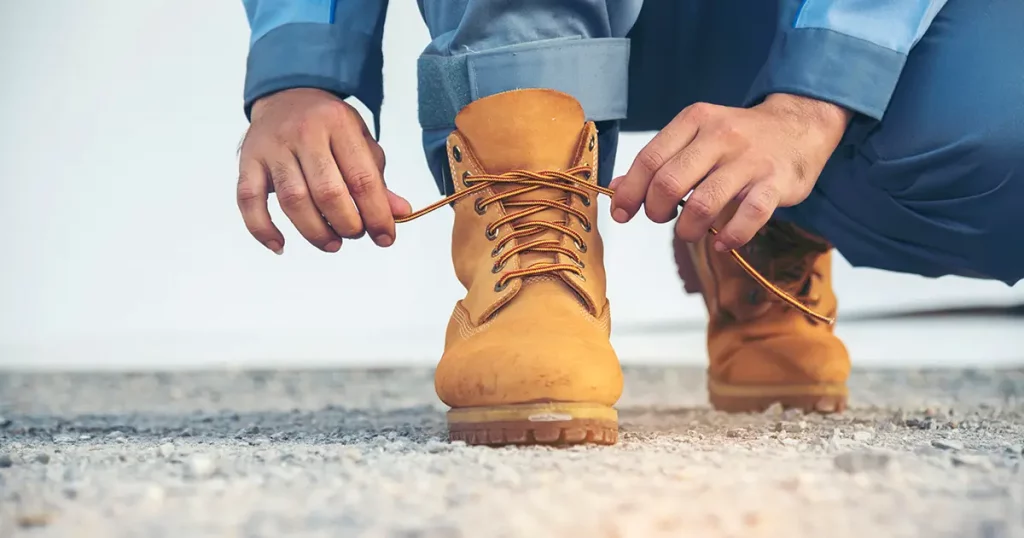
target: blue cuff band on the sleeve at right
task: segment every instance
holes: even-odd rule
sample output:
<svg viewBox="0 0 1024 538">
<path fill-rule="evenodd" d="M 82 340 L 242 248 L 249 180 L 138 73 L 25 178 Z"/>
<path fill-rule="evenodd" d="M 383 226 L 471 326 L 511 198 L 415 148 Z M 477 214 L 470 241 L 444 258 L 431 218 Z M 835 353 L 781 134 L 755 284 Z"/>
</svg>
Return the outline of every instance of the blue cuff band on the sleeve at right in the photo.
<svg viewBox="0 0 1024 538">
<path fill-rule="evenodd" d="M 905 54 L 839 32 L 791 29 L 775 38 L 748 106 L 792 93 L 881 120 L 905 63 Z"/>
</svg>

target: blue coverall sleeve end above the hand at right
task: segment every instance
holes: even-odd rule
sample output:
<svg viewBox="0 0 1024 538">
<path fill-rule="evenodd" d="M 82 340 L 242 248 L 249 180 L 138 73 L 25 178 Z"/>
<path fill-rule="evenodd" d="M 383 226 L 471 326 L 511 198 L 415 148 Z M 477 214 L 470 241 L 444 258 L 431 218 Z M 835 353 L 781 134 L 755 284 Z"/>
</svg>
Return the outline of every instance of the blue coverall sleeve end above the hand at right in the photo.
<svg viewBox="0 0 1024 538">
<path fill-rule="evenodd" d="M 770 93 L 834 102 L 881 120 L 910 49 L 946 0 L 782 0 L 749 104 Z"/>
</svg>

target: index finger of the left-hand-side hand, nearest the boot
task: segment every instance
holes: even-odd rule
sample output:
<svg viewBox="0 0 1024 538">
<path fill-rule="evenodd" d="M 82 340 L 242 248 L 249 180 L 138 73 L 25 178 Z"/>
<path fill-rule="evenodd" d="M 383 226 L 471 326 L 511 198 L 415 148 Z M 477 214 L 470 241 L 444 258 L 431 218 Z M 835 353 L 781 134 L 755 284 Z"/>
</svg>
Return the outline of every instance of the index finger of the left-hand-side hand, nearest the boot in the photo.
<svg viewBox="0 0 1024 538">
<path fill-rule="evenodd" d="M 378 161 L 372 146 L 376 142 L 371 144 L 356 129 L 346 130 L 331 138 L 335 161 L 367 232 L 374 243 L 387 247 L 394 243 L 394 216 L 384 187 L 383 152 Z"/>
</svg>

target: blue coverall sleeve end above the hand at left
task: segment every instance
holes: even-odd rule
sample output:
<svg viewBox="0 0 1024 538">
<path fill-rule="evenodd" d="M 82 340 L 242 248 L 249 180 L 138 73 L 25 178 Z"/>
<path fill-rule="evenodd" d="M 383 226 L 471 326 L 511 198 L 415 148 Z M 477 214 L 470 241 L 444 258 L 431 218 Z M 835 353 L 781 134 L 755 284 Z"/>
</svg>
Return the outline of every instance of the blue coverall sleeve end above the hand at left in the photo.
<svg viewBox="0 0 1024 538">
<path fill-rule="evenodd" d="M 245 113 L 265 95 L 319 88 L 380 117 L 387 0 L 243 0 L 249 28 Z M 379 131 L 379 128 L 378 128 Z"/>
</svg>

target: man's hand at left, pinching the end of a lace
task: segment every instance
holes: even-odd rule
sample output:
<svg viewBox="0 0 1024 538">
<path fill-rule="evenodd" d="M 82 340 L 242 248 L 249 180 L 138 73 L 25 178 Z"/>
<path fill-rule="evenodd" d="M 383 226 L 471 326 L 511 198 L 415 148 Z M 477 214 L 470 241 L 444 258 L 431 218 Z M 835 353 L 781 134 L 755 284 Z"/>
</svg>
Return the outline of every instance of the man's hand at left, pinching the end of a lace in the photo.
<svg viewBox="0 0 1024 538">
<path fill-rule="evenodd" d="M 394 217 L 412 212 L 384 184 L 384 151 L 362 118 L 337 96 L 291 89 L 256 101 L 239 161 L 239 209 L 246 227 L 281 254 L 285 238 L 270 221 L 267 195 L 302 237 L 337 252 L 342 239 L 369 232 L 374 243 L 394 242 Z"/>
</svg>

